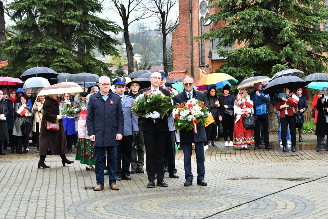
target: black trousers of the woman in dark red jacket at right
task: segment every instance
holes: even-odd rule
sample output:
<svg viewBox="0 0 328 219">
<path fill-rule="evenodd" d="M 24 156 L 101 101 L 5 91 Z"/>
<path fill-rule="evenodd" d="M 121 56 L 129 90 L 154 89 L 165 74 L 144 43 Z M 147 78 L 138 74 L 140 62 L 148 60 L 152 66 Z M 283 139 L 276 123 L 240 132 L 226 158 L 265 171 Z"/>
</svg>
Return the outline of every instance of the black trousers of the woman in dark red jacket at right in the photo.
<svg viewBox="0 0 328 219">
<path fill-rule="evenodd" d="M 296 146 L 296 119 L 295 116 L 285 115 L 285 118 L 280 118 L 281 124 L 281 141 L 282 146 L 287 146 L 287 127 L 289 125 L 290 137 L 292 146 Z"/>
</svg>

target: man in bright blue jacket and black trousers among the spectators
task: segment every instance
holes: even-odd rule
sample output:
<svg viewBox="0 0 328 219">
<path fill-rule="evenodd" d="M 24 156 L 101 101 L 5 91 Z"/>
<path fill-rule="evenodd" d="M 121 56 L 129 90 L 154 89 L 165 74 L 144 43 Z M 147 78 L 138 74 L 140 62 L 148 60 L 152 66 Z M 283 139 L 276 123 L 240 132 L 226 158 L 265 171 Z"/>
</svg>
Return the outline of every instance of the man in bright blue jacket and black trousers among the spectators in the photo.
<svg viewBox="0 0 328 219">
<path fill-rule="evenodd" d="M 258 82 L 254 84 L 255 90 L 251 93 L 251 100 L 254 103 L 254 109 L 256 108 L 256 126 L 255 126 L 255 147 L 259 149 L 260 145 L 260 123 L 262 122 L 263 127 L 263 139 L 264 148 L 271 149 L 269 142 L 269 116 L 266 110 L 266 103 L 270 102 L 268 94 L 263 94 L 262 83 Z"/>
</svg>

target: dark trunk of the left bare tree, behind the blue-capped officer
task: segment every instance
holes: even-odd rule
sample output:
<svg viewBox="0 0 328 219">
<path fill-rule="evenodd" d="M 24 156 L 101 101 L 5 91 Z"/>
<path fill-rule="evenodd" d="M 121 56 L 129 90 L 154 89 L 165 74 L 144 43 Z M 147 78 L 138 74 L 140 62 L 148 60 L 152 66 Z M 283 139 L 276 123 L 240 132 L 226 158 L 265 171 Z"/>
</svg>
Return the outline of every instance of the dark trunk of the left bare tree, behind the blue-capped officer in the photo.
<svg viewBox="0 0 328 219">
<path fill-rule="evenodd" d="M 128 74 L 134 72 L 134 63 L 133 63 L 133 47 L 130 43 L 129 36 L 129 25 L 128 18 L 126 17 L 126 10 L 124 5 L 121 5 L 122 10 L 122 22 L 123 22 L 123 30 L 124 30 L 124 41 L 126 46 L 126 55 L 128 57 Z"/>
</svg>

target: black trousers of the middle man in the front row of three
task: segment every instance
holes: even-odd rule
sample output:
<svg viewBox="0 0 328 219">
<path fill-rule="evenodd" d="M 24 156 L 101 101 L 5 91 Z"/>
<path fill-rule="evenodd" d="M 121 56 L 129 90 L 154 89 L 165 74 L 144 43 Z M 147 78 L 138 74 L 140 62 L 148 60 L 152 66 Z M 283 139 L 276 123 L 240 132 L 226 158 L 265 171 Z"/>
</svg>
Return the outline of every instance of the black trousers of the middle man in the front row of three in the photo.
<svg viewBox="0 0 328 219">
<path fill-rule="evenodd" d="M 146 147 L 146 169 L 149 181 L 164 178 L 164 150 L 167 132 L 160 132 L 156 124 L 152 124 L 148 131 L 143 131 Z"/>
</svg>

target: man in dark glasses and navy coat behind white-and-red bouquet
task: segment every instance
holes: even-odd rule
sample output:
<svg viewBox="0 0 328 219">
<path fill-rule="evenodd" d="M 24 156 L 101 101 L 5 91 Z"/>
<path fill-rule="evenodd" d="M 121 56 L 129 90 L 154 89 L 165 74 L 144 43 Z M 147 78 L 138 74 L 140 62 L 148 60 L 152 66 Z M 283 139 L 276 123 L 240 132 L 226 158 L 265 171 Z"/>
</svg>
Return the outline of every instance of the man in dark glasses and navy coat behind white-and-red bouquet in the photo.
<svg viewBox="0 0 328 219">
<path fill-rule="evenodd" d="M 195 91 L 194 78 L 187 75 L 183 77 L 183 91 L 174 96 L 174 105 L 187 102 L 188 99 L 198 99 L 203 101 L 204 104 L 208 106 L 204 93 L 200 91 Z M 204 180 L 205 177 L 205 157 L 204 157 L 204 142 L 206 141 L 205 126 L 197 125 L 197 132 L 194 130 L 186 131 L 184 129 L 180 130 L 180 144 L 182 146 L 183 156 L 184 156 L 184 167 L 185 167 L 185 179 L 186 182 L 184 186 L 193 185 L 194 175 L 191 172 L 191 154 L 192 154 L 192 143 L 195 142 L 195 154 L 197 163 L 197 184 L 201 186 L 207 186 Z"/>
</svg>

